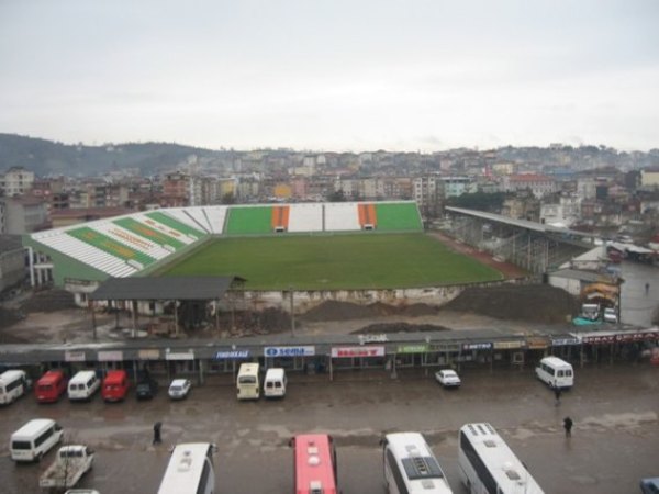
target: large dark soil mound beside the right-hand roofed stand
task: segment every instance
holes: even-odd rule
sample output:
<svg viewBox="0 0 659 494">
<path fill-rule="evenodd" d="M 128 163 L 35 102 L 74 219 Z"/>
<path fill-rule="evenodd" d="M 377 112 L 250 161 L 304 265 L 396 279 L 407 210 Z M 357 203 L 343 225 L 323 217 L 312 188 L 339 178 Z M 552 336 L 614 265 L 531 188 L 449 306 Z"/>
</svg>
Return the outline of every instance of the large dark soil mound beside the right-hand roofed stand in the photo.
<svg viewBox="0 0 659 494">
<path fill-rule="evenodd" d="M 579 300 L 548 284 L 510 284 L 472 288 L 442 308 L 470 312 L 499 319 L 560 324 L 579 314 Z"/>
</svg>

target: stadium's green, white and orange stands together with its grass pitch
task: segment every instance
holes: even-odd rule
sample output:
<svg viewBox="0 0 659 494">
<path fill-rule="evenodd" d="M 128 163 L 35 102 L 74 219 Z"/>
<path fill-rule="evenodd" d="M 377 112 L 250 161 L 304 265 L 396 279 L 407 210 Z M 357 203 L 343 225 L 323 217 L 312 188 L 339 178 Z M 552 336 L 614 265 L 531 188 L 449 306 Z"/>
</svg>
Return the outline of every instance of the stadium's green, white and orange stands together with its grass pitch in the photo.
<svg viewBox="0 0 659 494">
<path fill-rule="evenodd" d="M 392 290 L 500 280 L 423 231 L 413 201 L 216 205 L 35 233 L 33 283 L 76 293 L 110 278 L 239 277 L 244 289 Z M 87 287 L 87 288 L 86 288 Z"/>
</svg>

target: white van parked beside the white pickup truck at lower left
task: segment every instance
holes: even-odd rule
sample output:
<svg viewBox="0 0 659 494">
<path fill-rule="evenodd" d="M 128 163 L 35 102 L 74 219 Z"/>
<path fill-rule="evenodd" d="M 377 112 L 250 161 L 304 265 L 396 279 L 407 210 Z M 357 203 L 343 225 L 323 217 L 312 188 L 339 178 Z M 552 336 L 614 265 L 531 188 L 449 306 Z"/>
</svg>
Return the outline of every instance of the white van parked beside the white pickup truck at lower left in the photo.
<svg viewBox="0 0 659 494">
<path fill-rule="evenodd" d="M 9 450 L 14 461 L 38 461 L 62 440 L 64 431 L 49 418 L 30 420 L 11 435 Z"/>
</svg>

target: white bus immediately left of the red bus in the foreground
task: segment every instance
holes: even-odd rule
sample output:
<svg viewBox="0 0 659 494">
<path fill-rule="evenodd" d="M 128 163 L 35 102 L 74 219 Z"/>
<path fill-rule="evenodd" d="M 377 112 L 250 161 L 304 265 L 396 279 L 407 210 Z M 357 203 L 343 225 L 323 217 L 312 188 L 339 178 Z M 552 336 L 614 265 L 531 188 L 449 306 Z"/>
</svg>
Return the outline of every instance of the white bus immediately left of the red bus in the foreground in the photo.
<svg viewBox="0 0 659 494">
<path fill-rule="evenodd" d="M 216 450 L 217 447 L 210 442 L 177 445 L 171 452 L 158 494 L 213 494 L 213 453 Z"/>
</svg>

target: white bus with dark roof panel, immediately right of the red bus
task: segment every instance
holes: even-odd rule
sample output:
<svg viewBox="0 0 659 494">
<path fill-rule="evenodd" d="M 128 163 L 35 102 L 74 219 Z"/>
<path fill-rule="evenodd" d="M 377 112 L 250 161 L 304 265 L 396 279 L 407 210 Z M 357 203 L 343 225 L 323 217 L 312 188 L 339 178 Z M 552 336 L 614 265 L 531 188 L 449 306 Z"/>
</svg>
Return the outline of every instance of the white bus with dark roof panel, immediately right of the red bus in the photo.
<svg viewBox="0 0 659 494">
<path fill-rule="evenodd" d="M 382 439 L 384 486 L 389 494 L 450 494 L 453 491 L 424 437 L 388 434 Z"/>
</svg>

